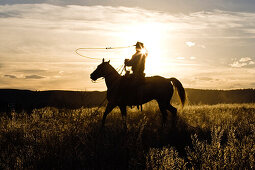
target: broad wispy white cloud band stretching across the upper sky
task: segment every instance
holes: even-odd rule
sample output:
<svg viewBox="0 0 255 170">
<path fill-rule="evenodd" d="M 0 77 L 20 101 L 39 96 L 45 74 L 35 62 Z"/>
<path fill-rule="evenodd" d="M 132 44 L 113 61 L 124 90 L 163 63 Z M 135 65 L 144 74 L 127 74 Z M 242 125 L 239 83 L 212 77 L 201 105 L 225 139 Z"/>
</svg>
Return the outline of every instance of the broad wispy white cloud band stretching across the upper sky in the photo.
<svg viewBox="0 0 255 170">
<path fill-rule="evenodd" d="M 195 12 L 190 15 L 171 15 L 160 11 L 121 6 L 16 4 L 0 6 L 0 14 L 2 14 L 4 18 L 8 17 L 10 20 L 16 18 L 15 23 L 3 20 L 3 24 L 12 24 L 19 26 L 19 28 L 61 29 L 82 32 L 94 30 L 118 31 L 120 28 L 125 30 L 125 27 L 129 29 L 133 24 L 144 22 L 160 23 L 160 26 L 170 31 L 176 27 L 178 28 L 176 29 L 177 32 L 183 30 L 188 31 L 188 33 L 199 32 L 201 36 L 207 35 L 206 32 L 201 34 L 201 30 L 206 29 L 210 29 L 217 34 L 224 33 L 219 32 L 219 29 L 223 29 L 224 31 L 231 31 L 233 29 L 235 33 L 237 33 L 236 31 L 238 30 L 242 30 L 242 32 L 245 32 L 247 35 L 249 32 L 252 35 L 255 30 L 255 14 L 220 10 Z M 26 20 L 20 22 L 20 19 Z M 27 27 L 28 25 L 30 27 Z M 208 33 L 212 34 L 210 31 Z M 238 36 L 238 34 L 240 33 L 235 35 Z M 191 41 L 187 41 L 186 44 L 188 46 L 195 45 L 195 43 Z"/>
</svg>

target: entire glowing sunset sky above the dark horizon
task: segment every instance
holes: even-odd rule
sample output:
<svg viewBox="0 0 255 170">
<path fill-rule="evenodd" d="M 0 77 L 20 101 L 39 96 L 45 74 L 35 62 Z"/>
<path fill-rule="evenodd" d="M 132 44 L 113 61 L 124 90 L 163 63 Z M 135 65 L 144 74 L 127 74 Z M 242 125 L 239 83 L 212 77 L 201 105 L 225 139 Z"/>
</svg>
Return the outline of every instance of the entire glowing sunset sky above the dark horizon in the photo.
<svg viewBox="0 0 255 170">
<path fill-rule="evenodd" d="M 255 88 L 254 0 L 0 0 L 0 88 L 106 90 L 89 75 L 117 69 L 144 43 L 147 76 L 185 88 Z"/>
</svg>

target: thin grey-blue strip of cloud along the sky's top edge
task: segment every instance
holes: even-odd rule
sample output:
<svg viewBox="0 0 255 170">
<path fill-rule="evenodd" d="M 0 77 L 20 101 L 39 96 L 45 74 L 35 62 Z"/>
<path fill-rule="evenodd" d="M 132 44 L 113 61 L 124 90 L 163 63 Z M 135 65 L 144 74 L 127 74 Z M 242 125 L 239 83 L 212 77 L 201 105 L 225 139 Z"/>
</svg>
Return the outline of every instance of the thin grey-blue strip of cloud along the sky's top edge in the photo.
<svg viewBox="0 0 255 170">
<path fill-rule="evenodd" d="M 172 13 L 191 13 L 195 11 L 208 11 L 220 9 L 226 11 L 250 11 L 254 12 L 255 2 L 252 0 L 1 0 L 0 4 L 53 4 L 53 5 L 86 5 L 86 6 L 126 6 L 146 9 L 163 10 Z M 174 4 L 174 5 L 172 5 Z"/>
</svg>

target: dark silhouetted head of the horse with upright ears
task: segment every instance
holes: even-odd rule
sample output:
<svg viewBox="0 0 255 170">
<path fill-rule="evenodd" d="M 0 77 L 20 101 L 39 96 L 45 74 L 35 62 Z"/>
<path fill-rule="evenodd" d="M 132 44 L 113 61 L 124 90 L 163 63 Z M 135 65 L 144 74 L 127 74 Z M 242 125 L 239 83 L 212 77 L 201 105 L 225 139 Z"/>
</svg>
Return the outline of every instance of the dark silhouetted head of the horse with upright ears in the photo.
<svg viewBox="0 0 255 170">
<path fill-rule="evenodd" d="M 110 60 L 105 62 L 104 59 L 102 60 L 102 63 L 99 64 L 93 73 L 90 74 L 90 78 L 93 81 L 96 81 L 100 77 L 105 77 L 109 71 L 109 66 L 110 66 Z"/>
</svg>

